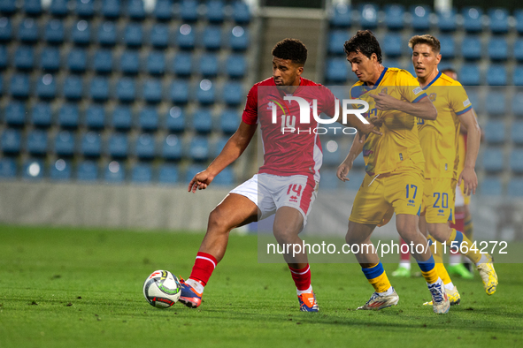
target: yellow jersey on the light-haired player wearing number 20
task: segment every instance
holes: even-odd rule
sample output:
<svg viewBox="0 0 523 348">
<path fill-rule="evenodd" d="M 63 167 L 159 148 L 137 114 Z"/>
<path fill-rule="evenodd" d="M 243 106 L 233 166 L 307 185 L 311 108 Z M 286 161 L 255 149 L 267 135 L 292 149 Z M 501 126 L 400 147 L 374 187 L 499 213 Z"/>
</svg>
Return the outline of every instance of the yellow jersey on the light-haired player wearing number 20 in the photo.
<svg viewBox="0 0 523 348">
<path fill-rule="evenodd" d="M 442 72 L 423 89 L 438 110 L 434 121 L 418 119 L 419 140 L 426 161 L 425 178 L 457 178 L 458 116 L 473 106 L 465 88 Z"/>
</svg>

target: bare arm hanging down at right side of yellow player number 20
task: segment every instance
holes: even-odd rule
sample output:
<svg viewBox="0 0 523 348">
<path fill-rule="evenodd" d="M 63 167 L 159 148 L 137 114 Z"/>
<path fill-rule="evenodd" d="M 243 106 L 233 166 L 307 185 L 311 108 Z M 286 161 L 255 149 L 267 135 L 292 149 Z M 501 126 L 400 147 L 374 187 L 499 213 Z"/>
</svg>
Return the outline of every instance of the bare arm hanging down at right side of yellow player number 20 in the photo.
<svg viewBox="0 0 523 348">
<path fill-rule="evenodd" d="M 461 124 L 466 128 L 465 167 L 459 174 L 458 185 L 465 185 L 463 192 L 466 195 L 470 195 L 471 193 L 476 193 L 476 187 L 478 186 L 478 177 L 474 167 L 480 151 L 481 129 L 473 109 L 458 117 Z"/>
</svg>

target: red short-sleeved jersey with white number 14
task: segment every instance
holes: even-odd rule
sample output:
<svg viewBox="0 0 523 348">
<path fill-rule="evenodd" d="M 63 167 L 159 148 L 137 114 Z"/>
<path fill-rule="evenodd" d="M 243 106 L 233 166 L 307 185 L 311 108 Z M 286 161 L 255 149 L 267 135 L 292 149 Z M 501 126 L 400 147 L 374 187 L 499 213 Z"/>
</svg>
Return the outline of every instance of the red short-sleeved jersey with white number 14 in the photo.
<svg viewBox="0 0 523 348">
<path fill-rule="evenodd" d="M 264 164 L 258 172 L 282 177 L 305 175 L 319 181 L 323 154 L 318 122 L 312 116 L 312 105 L 313 100 L 316 100 L 317 114 L 323 112 L 332 117 L 335 115 L 337 102 L 335 95 L 327 87 L 310 79 L 300 78 L 300 85 L 294 94 L 287 96 L 303 98 L 310 104 L 309 123 L 301 122 L 299 103 L 285 101 L 285 96 L 276 87 L 273 78 L 258 82 L 250 88 L 247 95 L 242 121 L 248 125 L 259 123 L 262 135 Z M 275 118 L 273 108 L 276 109 Z M 332 125 L 324 126 L 327 129 Z"/>
</svg>

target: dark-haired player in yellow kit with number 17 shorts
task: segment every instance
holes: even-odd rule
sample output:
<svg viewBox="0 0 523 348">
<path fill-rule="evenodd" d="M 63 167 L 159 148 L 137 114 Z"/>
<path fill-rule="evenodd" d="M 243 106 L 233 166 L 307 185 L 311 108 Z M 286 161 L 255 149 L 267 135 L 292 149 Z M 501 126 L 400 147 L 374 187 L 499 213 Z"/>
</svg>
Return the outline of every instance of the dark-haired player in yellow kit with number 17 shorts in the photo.
<svg viewBox="0 0 523 348">
<path fill-rule="evenodd" d="M 354 159 L 363 151 L 365 179 L 354 200 L 345 238 L 374 292 L 358 309 L 396 306 L 399 297 L 375 253 L 370 240 L 377 225 L 388 223 L 396 213 L 396 228 L 407 243 L 421 246 L 411 250 L 433 299 L 434 312 L 449 311 L 450 302 L 427 239 L 418 228 L 423 197 L 425 160 L 419 146 L 416 117 L 435 119 L 437 111 L 409 72 L 381 64 L 381 48 L 373 33 L 358 31 L 343 46 L 352 72 L 359 81 L 350 88 L 350 98 L 365 100 L 365 117 L 382 120 L 381 136 L 370 135 L 365 143 L 357 135 L 349 155 L 340 164 L 337 177 L 347 180 Z M 356 251 L 358 250 L 358 251 Z"/>
</svg>

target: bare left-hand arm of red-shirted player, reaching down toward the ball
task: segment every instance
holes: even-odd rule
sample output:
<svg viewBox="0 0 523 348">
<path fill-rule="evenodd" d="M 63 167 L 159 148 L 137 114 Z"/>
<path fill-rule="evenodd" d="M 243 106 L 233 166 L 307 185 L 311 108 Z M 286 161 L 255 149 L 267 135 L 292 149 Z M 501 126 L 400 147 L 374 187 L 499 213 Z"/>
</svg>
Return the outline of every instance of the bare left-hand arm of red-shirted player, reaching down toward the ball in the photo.
<svg viewBox="0 0 523 348">
<path fill-rule="evenodd" d="M 235 162 L 235 160 L 242 155 L 245 148 L 250 143 L 254 132 L 258 125 L 248 125 L 242 121 L 233 136 L 227 140 L 225 147 L 219 153 L 218 157 L 209 164 L 206 170 L 200 171 L 195 175 L 190 183 L 188 183 L 188 192 L 196 193 L 196 189 L 204 190 L 207 185 L 210 185 L 214 177 L 216 177 L 221 170 L 224 170 L 227 165 Z"/>
</svg>

